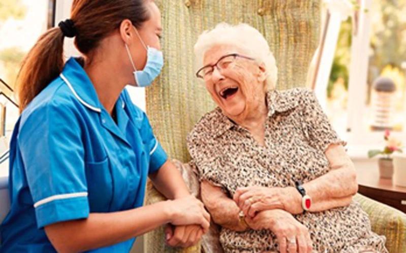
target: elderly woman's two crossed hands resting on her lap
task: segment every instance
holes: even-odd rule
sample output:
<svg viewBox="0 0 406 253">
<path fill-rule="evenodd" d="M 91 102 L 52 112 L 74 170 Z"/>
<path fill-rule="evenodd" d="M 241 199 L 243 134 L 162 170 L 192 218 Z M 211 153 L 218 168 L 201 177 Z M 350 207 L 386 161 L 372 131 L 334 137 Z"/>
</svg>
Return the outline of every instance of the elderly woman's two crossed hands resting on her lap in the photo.
<svg viewBox="0 0 406 253">
<path fill-rule="evenodd" d="M 249 228 L 268 229 L 276 235 L 280 252 L 313 250 L 308 229 L 292 215 L 303 212 L 295 188 L 243 187 L 236 190 L 233 200 Z"/>
</svg>

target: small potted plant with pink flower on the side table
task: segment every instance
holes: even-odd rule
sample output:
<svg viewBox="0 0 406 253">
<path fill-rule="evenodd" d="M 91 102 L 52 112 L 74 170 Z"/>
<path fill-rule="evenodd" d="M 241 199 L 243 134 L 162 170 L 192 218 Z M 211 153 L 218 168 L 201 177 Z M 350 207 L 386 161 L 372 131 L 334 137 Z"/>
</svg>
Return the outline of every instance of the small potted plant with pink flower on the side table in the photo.
<svg viewBox="0 0 406 253">
<path fill-rule="evenodd" d="M 390 131 L 386 130 L 384 134 L 385 148 L 383 150 L 370 150 L 368 157 L 380 155 L 378 160 L 379 174 L 382 178 L 392 178 L 393 176 L 393 152 L 402 152 L 401 142 L 395 137 L 390 136 Z"/>
</svg>

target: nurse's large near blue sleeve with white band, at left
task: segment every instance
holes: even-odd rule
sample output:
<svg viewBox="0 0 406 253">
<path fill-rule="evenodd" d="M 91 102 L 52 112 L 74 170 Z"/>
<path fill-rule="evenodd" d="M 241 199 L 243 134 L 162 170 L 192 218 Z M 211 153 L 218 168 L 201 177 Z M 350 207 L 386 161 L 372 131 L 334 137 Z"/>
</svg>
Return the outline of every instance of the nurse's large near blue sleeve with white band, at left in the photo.
<svg viewBox="0 0 406 253">
<path fill-rule="evenodd" d="M 17 137 L 38 228 L 89 215 L 81 127 L 67 107 L 35 109 Z"/>
</svg>

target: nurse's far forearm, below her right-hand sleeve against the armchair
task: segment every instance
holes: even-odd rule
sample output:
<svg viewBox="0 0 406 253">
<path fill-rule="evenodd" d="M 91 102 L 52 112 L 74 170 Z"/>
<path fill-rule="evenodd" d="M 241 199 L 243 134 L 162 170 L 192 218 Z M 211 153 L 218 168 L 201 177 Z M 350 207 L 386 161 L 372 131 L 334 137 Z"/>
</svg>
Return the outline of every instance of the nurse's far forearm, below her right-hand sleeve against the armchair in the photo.
<svg viewBox="0 0 406 253">
<path fill-rule="evenodd" d="M 150 174 L 149 178 L 153 186 L 168 199 L 177 199 L 190 195 L 182 175 L 170 160 L 166 161 L 158 172 Z"/>
</svg>

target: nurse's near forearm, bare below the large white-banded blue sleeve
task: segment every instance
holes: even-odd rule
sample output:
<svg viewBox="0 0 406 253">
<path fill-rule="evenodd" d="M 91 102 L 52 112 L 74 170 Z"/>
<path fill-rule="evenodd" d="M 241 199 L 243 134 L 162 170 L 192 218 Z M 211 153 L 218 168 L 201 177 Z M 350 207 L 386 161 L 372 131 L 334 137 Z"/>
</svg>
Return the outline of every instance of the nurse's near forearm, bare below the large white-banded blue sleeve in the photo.
<svg viewBox="0 0 406 253">
<path fill-rule="evenodd" d="M 58 252 L 79 252 L 126 241 L 170 222 L 167 202 L 111 213 L 90 213 L 87 219 L 55 223 L 45 232 Z"/>
</svg>

